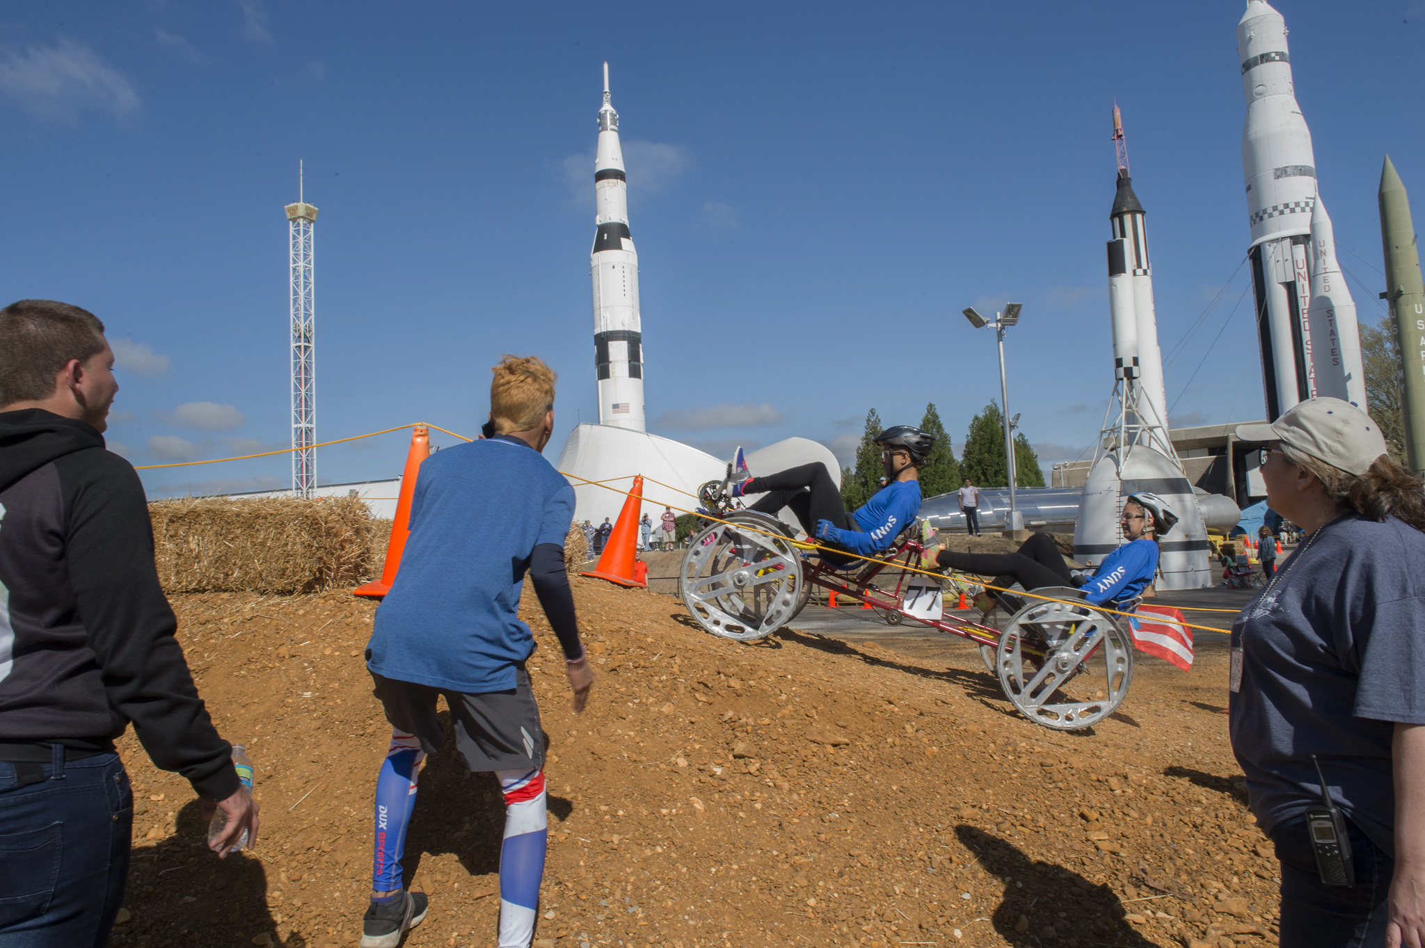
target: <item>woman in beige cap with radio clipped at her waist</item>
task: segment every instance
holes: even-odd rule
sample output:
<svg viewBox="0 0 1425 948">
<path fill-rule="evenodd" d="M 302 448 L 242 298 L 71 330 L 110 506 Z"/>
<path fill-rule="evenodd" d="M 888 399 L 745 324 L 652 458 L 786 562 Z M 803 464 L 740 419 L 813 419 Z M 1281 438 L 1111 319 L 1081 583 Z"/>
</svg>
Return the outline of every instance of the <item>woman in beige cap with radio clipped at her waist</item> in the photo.
<svg viewBox="0 0 1425 948">
<path fill-rule="evenodd" d="M 1281 945 L 1419 948 L 1421 478 L 1340 399 L 1302 401 L 1271 424 L 1238 426 L 1237 437 L 1264 444 L 1267 505 L 1304 532 L 1231 641 L 1233 750 L 1281 861 Z"/>
</svg>

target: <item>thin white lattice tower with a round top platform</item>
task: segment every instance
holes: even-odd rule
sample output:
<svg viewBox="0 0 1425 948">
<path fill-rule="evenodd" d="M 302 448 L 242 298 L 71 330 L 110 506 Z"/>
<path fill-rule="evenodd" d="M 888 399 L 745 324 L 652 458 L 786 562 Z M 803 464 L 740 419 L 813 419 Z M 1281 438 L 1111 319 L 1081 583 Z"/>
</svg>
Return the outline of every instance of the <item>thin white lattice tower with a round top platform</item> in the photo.
<svg viewBox="0 0 1425 948">
<path fill-rule="evenodd" d="M 286 205 L 291 249 L 292 323 L 292 495 L 316 491 L 316 305 L 312 295 L 312 231 L 316 208 L 302 195 L 302 164 L 296 165 L 296 204 Z"/>
</svg>

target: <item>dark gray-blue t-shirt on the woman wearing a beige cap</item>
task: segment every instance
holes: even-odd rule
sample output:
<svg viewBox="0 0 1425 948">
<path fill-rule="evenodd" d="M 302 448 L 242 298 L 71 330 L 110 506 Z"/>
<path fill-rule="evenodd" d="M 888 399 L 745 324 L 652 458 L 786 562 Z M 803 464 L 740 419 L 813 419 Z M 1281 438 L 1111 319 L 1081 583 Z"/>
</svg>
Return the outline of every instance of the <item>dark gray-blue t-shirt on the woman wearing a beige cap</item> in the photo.
<svg viewBox="0 0 1425 948">
<path fill-rule="evenodd" d="M 1395 722 L 1425 725 L 1425 534 L 1351 512 L 1318 528 L 1233 622 L 1233 752 L 1271 833 L 1331 800 L 1395 855 Z"/>
</svg>

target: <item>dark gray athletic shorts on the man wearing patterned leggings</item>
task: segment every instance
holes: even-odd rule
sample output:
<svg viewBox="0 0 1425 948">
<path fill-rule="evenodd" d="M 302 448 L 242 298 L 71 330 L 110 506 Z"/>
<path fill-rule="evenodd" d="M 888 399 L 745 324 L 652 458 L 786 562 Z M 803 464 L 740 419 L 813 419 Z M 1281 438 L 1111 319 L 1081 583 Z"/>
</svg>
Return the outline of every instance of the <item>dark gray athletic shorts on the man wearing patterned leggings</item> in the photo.
<svg viewBox="0 0 1425 948">
<path fill-rule="evenodd" d="M 398 682 L 370 673 L 373 693 L 396 730 L 420 739 L 428 754 L 440 750 L 445 734 L 436 717 L 436 696 L 443 695 L 455 717 L 455 746 L 473 773 L 544 767 L 544 730 L 529 672 L 514 668 L 514 688 L 506 692 L 466 695 L 429 685 Z"/>
</svg>

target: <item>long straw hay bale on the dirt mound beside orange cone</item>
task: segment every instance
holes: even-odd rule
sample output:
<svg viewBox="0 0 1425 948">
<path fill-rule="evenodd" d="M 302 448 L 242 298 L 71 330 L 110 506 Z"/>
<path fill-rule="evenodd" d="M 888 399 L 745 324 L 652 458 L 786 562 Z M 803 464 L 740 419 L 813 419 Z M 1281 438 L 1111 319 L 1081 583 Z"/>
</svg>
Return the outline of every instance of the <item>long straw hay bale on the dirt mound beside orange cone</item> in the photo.
<svg viewBox="0 0 1425 948">
<path fill-rule="evenodd" d="M 373 521 L 352 497 L 165 500 L 148 517 L 165 592 L 291 595 L 372 572 Z"/>
</svg>

